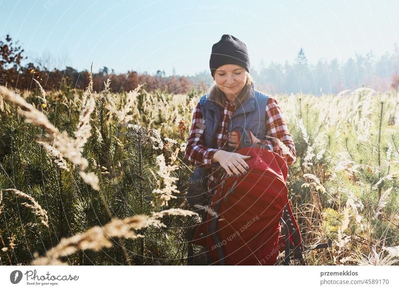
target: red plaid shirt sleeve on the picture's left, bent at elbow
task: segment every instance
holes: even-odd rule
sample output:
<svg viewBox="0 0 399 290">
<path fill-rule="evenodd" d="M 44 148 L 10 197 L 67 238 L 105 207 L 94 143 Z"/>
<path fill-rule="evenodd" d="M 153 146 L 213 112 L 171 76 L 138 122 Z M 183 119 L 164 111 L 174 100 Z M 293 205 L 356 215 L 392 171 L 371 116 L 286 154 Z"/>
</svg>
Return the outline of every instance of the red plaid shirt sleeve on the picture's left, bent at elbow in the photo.
<svg viewBox="0 0 399 290">
<path fill-rule="evenodd" d="M 200 103 L 197 103 L 185 151 L 186 159 L 196 167 L 212 167 L 213 154 L 218 150 L 204 145 L 204 129 L 205 122 L 202 118 Z"/>
</svg>

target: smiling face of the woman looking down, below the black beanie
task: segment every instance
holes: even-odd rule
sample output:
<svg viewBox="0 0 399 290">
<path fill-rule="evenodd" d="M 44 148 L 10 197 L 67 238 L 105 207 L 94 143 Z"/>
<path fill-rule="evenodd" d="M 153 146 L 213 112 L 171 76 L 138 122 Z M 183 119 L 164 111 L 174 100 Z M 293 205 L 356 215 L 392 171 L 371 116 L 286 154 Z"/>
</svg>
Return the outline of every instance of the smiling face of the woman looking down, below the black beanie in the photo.
<svg viewBox="0 0 399 290">
<path fill-rule="evenodd" d="M 217 87 L 234 101 L 245 86 L 247 75 L 245 69 L 236 64 L 225 64 L 219 66 L 214 74 Z"/>
</svg>

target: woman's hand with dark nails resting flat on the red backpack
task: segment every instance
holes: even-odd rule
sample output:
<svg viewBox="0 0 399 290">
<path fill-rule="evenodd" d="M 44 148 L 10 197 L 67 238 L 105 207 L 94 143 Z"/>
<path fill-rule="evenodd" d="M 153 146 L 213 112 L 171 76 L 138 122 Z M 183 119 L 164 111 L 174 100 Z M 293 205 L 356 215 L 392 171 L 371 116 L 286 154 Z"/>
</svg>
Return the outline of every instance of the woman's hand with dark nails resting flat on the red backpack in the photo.
<svg viewBox="0 0 399 290">
<path fill-rule="evenodd" d="M 222 166 L 230 176 L 233 176 L 233 174 L 241 176 L 241 174 L 246 174 L 248 172 L 249 166 L 245 160 L 250 158 L 251 156 L 242 155 L 240 153 L 217 150 L 213 154 L 212 163 L 219 162 L 220 166 Z"/>
</svg>

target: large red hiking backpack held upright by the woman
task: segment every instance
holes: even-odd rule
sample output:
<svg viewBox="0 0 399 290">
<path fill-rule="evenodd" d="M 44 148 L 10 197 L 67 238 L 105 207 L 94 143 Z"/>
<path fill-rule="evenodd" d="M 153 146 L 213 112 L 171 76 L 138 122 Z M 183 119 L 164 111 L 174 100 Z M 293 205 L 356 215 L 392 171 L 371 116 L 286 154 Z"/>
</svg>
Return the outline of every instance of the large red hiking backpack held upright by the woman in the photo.
<svg viewBox="0 0 399 290">
<path fill-rule="evenodd" d="M 245 147 L 250 144 L 248 132 L 236 132 L 240 146 L 235 152 L 252 156 L 246 160 L 250 168 L 241 177 L 221 177 L 211 211 L 189 237 L 188 264 L 191 243 L 207 248 L 211 265 L 274 265 L 283 250 L 284 264 L 289 265 L 290 244 L 294 259 L 304 264 L 301 234 L 288 202 L 285 159 L 264 147 Z M 285 236 L 280 235 L 281 225 Z"/>
</svg>

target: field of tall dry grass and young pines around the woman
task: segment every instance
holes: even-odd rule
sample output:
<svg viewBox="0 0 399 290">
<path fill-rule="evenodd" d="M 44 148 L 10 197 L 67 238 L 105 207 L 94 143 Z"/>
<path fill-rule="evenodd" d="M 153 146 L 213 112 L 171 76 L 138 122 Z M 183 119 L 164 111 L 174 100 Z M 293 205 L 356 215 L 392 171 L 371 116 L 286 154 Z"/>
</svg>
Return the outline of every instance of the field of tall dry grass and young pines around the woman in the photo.
<svg viewBox="0 0 399 290">
<path fill-rule="evenodd" d="M 0 87 L 0 265 L 185 265 L 198 95 Z M 276 95 L 308 265 L 398 265 L 399 96 Z M 195 251 L 200 249 L 195 248 Z"/>
</svg>

